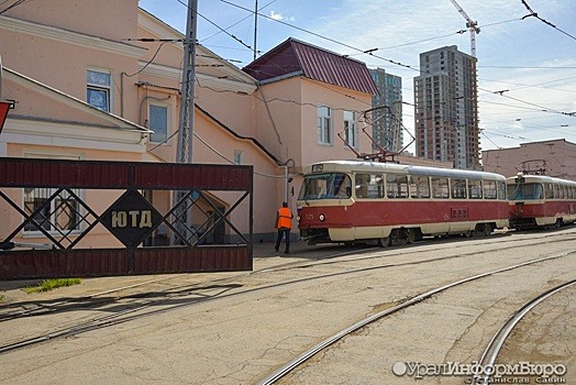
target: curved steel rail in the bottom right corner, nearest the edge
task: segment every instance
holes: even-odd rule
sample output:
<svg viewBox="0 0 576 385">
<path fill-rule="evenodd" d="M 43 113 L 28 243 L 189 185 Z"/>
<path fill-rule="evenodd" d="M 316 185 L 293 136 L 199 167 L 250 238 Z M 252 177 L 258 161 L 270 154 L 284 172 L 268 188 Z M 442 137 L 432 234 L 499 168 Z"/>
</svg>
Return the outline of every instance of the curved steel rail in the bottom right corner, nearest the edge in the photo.
<svg viewBox="0 0 576 385">
<path fill-rule="evenodd" d="M 512 330 L 516 328 L 518 322 L 522 320 L 522 318 L 530 312 L 534 307 L 536 307 L 540 302 L 546 300 L 547 298 L 552 297 L 556 293 L 576 284 L 576 279 L 568 280 L 562 285 L 558 285 L 556 287 L 551 288 L 547 292 L 542 293 L 538 297 L 533 298 L 529 302 L 527 302 L 524 306 L 522 306 L 520 309 L 518 309 L 512 317 L 508 319 L 508 321 L 502 324 L 502 327 L 496 332 L 496 334 L 492 337 L 491 341 L 488 343 L 488 346 L 484 351 L 480 361 L 478 364 L 480 367 L 488 367 L 492 366 L 496 362 L 496 358 L 498 356 L 498 353 L 500 353 L 500 350 L 502 349 L 506 339 L 508 336 L 512 332 Z M 491 375 L 477 375 L 474 378 L 473 384 L 477 385 L 485 385 L 489 384 Z"/>
</svg>

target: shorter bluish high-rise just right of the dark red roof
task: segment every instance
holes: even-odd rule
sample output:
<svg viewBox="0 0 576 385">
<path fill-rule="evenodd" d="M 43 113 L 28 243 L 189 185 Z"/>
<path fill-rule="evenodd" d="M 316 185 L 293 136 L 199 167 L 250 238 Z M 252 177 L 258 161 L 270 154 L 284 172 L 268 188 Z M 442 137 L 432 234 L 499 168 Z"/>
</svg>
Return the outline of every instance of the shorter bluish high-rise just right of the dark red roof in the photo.
<svg viewBox="0 0 576 385">
<path fill-rule="evenodd" d="M 373 138 L 380 147 L 399 152 L 402 138 L 402 78 L 383 68 L 370 69 L 380 95 L 372 97 Z M 378 150 L 373 145 L 373 150 Z"/>
</svg>

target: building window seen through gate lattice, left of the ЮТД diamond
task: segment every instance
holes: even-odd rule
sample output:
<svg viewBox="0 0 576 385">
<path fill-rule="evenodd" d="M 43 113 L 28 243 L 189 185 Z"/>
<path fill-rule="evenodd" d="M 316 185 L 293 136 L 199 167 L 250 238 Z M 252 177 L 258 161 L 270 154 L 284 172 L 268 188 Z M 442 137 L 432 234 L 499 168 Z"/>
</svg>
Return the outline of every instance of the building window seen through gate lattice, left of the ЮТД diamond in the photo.
<svg viewBox="0 0 576 385">
<path fill-rule="evenodd" d="M 52 188 L 24 188 L 24 211 L 31 216 L 38 210 L 32 217 L 33 222 L 24 226 L 24 233 L 38 233 L 38 228 L 60 234 L 80 230 L 81 216 L 76 199 L 79 190 L 65 189 L 53 197 L 55 193 Z"/>
</svg>

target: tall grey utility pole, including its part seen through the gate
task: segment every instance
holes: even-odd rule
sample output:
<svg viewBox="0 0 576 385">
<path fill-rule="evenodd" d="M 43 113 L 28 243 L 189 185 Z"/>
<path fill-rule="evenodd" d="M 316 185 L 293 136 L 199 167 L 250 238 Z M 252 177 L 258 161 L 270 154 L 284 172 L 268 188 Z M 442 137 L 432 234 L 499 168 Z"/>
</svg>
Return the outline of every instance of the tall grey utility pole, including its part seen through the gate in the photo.
<svg viewBox="0 0 576 385">
<path fill-rule="evenodd" d="M 177 163 L 192 163 L 195 82 L 196 82 L 196 29 L 198 24 L 198 0 L 188 0 L 188 21 L 186 23 L 186 40 L 184 44 L 184 68 L 180 100 L 180 117 L 178 122 Z M 174 205 L 182 201 L 188 191 L 175 191 Z M 176 212 L 176 229 L 187 239 L 190 232 L 191 212 L 182 202 Z M 173 244 L 182 244 L 184 240 L 173 237 Z"/>
</svg>

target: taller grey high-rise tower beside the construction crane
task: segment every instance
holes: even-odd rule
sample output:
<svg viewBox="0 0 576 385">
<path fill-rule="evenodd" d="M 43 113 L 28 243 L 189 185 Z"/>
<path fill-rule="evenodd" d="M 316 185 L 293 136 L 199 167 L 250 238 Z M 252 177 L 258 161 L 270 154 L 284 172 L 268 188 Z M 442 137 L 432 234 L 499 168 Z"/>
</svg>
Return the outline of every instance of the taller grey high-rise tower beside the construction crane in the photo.
<svg viewBox="0 0 576 385">
<path fill-rule="evenodd" d="M 420 54 L 414 106 L 418 156 L 480 168 L 475 57 L 455 45 Z"/>
</svg>

